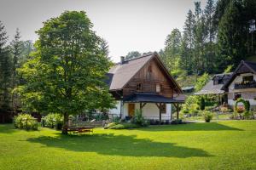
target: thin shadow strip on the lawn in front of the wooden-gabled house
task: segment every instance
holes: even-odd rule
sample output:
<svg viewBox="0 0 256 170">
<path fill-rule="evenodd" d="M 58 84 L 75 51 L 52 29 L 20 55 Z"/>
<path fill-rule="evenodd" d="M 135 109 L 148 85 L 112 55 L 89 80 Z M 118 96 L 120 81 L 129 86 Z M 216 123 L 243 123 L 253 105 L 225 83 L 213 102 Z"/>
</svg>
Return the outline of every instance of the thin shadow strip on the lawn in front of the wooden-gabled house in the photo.
<svg viewBox="0 0 256 170">
<path fill-rule="evenodd" d="M 223 131 L 223 130 L 243 131 L 242 129 L 225 126 L 218 122 L 150 126 L 147 128 L 140 128 L 138 130 L 152 131 L 152 132 L 154 131 Z"/>
</svg>

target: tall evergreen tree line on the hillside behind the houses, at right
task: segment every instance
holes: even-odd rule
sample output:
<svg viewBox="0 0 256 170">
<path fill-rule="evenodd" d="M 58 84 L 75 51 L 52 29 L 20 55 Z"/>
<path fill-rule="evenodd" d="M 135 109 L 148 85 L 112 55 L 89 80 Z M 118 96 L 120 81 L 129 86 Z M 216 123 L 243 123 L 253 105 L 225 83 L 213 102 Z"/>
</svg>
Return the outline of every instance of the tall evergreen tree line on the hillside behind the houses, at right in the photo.
<svg viewBox="0 0 256 170">
<path fill-rule="evenodd" d="M 238 65 L 256 50 L 256 2 L 207 0 L 189 9 L 183 32 L 173 29 L 160 57 L 175 77 L 223 72 Z"/>
</svg>

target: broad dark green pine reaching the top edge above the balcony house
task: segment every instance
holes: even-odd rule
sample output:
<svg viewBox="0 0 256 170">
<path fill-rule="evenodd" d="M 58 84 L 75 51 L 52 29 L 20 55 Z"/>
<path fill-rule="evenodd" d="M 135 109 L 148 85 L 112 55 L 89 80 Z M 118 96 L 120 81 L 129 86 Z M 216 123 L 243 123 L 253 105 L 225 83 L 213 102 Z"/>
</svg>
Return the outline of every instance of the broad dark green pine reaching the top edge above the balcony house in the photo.
<svg viewBox="0 0 256 170">
<path fill-rule="evenodd" d="M 247 56 L 247 20 L 242 1 L 231 1 L 218 23 L 219 70 L 226 65 L 238 65 Z"/>
</svg>

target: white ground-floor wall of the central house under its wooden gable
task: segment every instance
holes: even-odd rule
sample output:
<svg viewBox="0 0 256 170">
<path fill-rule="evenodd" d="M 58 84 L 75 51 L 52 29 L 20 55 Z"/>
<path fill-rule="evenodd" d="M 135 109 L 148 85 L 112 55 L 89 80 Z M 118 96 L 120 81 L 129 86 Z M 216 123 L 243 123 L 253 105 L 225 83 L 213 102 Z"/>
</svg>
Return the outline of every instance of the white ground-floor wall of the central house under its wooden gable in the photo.
<svg viewBox="0 0 256 170">
<path fill-rule="evenodd" d="M 116 115 L 120 116 L 120 102 L 118 101 L 116 104 L 115 109 L 109 110 L 110 115 Z M 123 105 L 123 111 L 122 111 L 122 118 L 125 118 L 125 116 L 128 116 L 128 103 L 125 103 Z M 140 109 L 140 104 L 136 103 L 135 104 L 135 110 Z M 166 113 L 161 114 L 161 119 L 162 120 L 170 120 L 171 119 L 171 112 L 172 112 L 172 105 L 171 104 L 166 104 Z M 143 107 L 143 116 L 146 119 L 155 119 L 159 120 L 159 108 L 154 104 L 154 103 L 147 103 Z"/>
</svg>

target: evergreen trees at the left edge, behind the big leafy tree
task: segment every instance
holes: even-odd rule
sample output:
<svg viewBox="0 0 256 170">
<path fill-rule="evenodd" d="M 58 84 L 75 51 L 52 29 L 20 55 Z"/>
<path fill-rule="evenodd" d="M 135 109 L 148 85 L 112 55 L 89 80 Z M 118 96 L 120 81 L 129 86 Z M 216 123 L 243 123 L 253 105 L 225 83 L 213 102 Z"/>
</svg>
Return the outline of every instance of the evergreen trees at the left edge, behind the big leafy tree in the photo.
<svg viewBox="0 0 256 170">
<path fill-rule="evenodd" d="M 32 41 L 21 41 L 19 29 L 9 42 L 5 27 L 0 21 L 0 113 L 16 112 L 19 108 L 18 95 L 14 89 L 23 82 L 17 70 L 26 62 L 32 51 Z"/>
</svg>

